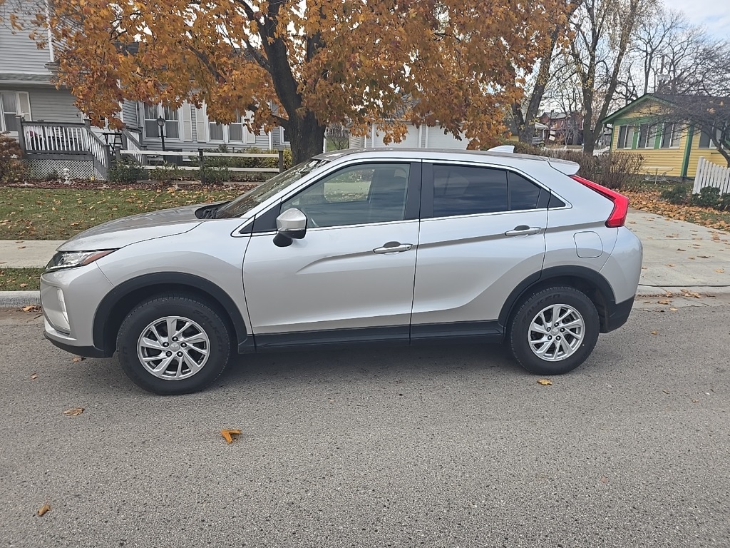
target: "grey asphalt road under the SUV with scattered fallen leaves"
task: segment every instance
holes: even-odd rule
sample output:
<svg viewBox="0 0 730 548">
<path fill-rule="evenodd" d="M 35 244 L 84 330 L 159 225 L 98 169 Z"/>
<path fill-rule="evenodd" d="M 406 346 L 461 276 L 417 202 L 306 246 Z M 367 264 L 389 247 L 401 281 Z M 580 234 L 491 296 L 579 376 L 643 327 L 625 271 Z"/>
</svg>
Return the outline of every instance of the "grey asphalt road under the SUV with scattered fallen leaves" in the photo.
<svg viewBox="0 0 730 548">
<path fill-rule="evenodd" d="M 727 548 L 730 306 L 662 310 L 553 386 L 429 346 L 249 357 L 184 397 L 0 311 L 0 547 Z"/>
</svg>

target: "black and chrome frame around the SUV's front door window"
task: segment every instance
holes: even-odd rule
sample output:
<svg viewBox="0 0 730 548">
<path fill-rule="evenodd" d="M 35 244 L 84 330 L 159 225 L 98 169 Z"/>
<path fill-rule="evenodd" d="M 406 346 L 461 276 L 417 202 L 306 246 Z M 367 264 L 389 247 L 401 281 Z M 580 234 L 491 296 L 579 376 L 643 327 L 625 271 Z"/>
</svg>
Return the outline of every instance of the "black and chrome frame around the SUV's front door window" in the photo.
<svg viewBox="0 0 730 548">
<path fill-rule="evenodd" d="M 316 179 L 312 179 L 310 183 L 307 184 L 307 186 L 302 187 L 301 189 L 296 189 L 296 192 L 292 192 L 291 194 L 287 194 L 286 196 L 282 197 L 281 199 L 277 199 L 277 201 L 272 204 L 269 208 L 262 211 L 261 213 L 256 214 L 253 225 L 251 225 L 250 230 L 245 230 L 245 232 L 251 232 L 252 235 L 266 235 L 266 234 L 273 234 L 277 231 L 276 228 L 276 218 L 280 215 L 281 211 L 281 205 L 283 202 L 285 202 L 288 199 L 291 199 L 295 197 L 297 194 L 306 191 L 310 188 L 310 186 L 315 185 L 320 182 L 320 180 L 323 180 L 325 178 L 329 178 L 333 175 L 336 175 L 338 172 L 342 170 L 347 170 L 352 167 L 357 167 L 358 165 L 366 165 L 366 164 L 410 164 L 409 170 L 408 170 L 408 185 L 406 189 L 406 208 L 404 212 L 404 218 L 401 221 L 382 221 L 378 223 L 353 223 L 353 224 L 339 224 L 334 227 L 315 227 L 307 229 L 309 230 L 327 230 L 327 229 L 337 229 L 340 227 L 368 227 L 373 224 L 388 224 L 388 223 L 402 223 L 404 221 L 413 221 L 418 220 L 420 216 L 420 208 L 421 208 L 421 186 L 422 186 L 422 172 L 423 172 L 423 161 L 420 160 L 411 160 L 411 159 L 359 159 L 358 161 L 353 161 L 347 164 L 343 164 L 342 166 L 339 166 L 335 170 L 328 171 L 324 173 L 321 177 L 318 177 Z M 246 228 L 248 228 L 250 225 L 247 224 Z M 240 232 L 244 232 L 241 230 Z"/>
</svg>

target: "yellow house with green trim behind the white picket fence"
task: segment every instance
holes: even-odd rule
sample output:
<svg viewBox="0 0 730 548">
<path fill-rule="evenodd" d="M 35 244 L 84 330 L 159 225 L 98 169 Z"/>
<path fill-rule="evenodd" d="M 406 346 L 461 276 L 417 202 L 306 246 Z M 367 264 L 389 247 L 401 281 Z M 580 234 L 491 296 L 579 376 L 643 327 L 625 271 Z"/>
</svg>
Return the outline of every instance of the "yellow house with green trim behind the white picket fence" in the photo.
<svg viewBox="0 0 730 548">
<path fill-rule="evenodd" d="M 685 121 L 668 122 L 667 96 L 645 94 L 602 120 L 612 124 L 610 150 L 644 157 L 644 170 L 656 176 L 694 178 L 704 158 L 726 167 L 710 136 Z"/>
</svg>

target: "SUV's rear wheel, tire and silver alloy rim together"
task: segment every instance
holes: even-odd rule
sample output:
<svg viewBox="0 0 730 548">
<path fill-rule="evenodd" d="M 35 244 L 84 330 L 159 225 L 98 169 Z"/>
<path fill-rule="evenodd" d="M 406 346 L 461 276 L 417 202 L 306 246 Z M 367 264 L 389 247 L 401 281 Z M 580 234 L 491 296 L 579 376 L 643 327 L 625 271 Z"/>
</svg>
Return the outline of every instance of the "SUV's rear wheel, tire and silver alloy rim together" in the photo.
<svg viewBox="0 0 730 548">
<path fill-rule="evenodd" d="M 537 375 L 561 375 L 593 351 L 600 321 L 596 306 L 572 287 L 542 289 L 523 301 L 510 322 L 508 343 L 520 365 Z"/>
</svg>

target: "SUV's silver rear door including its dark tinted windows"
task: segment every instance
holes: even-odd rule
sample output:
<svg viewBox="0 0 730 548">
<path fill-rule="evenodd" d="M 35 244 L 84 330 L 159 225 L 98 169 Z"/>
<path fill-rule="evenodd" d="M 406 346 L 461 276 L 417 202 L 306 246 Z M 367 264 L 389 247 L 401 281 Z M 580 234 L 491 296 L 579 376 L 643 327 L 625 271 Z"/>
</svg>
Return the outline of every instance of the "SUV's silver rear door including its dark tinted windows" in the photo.
<svg viewBox="0 0 730 548">
<path fill-rule="evenodd" d="M 507 296 L 545 257 L 548 190 L 478 164 L 423 164 L 412 339 L 499 335 Z"/>
</svg>

